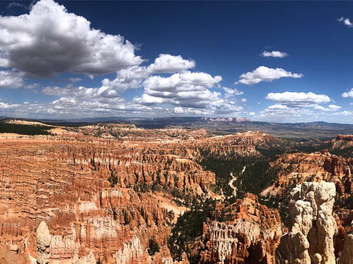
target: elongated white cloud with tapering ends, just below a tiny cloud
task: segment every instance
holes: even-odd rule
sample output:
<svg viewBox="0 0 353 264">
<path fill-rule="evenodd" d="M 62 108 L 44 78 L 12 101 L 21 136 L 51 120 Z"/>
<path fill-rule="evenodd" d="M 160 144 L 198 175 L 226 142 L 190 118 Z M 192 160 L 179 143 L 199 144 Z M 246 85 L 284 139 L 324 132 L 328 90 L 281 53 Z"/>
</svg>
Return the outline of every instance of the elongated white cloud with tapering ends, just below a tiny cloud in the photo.
<svg viewBox="0 0 353 264">
<path fill-rule="evenodd" d="M 247 73 L 243 73 L 239 76 L 239 80 L 235 84 L 256 84 L 261 81 L 273 81 L 282 77 L 291 77 L 291 78 L 301 78 L 304 75 L 302 73 L 291 73 L 282 68 L 268 68 L 266 66 L 260 66 L 255 70 Z"/>
</svg>

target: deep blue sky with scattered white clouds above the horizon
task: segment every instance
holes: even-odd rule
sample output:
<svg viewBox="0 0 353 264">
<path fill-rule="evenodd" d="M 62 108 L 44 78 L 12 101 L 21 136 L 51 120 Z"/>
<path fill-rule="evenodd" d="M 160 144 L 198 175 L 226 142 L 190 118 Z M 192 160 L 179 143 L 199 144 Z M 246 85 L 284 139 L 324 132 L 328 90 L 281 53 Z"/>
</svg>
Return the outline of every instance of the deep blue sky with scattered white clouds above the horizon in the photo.
<svg viewBox="0 0 353 264">
<path fill-rule="evenodd" d="M 0 2 L 0 116 L 353 124 L 353 2 Z"/>
</svg>

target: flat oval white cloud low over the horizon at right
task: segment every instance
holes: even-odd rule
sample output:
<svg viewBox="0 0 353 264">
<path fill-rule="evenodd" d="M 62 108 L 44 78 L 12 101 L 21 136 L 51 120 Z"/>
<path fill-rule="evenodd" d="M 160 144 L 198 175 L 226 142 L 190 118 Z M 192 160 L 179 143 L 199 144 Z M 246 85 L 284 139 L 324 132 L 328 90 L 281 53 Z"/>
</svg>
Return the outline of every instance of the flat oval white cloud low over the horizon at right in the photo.
<svg viewBox="0 0 353 264">
<path fill-rule="evenodd" d="M 318 104 L 325 104 L 331 101 L 326 95 L 317 95 L 310 93 L 284 92 L 284 93 L 269 93 L 266 99 L 287 105 L 290 107 L 310 107 Z"/>
</svg>

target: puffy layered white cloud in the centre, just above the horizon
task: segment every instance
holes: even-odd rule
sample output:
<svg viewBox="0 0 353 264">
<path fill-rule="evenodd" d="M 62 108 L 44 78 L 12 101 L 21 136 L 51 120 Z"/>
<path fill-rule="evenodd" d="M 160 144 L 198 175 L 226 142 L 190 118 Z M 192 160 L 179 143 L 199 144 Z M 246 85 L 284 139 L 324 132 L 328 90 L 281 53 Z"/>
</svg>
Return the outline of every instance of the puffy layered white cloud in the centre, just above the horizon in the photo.
<svg viewBox="0 0 353 264">
<path fill-rule="evenodd" d="M 174 107 L 175 114 L 239 114 L 243 108 L 228 98 L 242 92 L 226 88 L 224 91 L 227 96 L 222 98 L 221 93 L 210 91 L 221 80 L 221 76 L 186 70 L 168 77 L 149 76 L 142 82 L 144 93 L 141 97 L 135 97 L 134 103 L 145 106 L 168 104 Z"/>
</svg>

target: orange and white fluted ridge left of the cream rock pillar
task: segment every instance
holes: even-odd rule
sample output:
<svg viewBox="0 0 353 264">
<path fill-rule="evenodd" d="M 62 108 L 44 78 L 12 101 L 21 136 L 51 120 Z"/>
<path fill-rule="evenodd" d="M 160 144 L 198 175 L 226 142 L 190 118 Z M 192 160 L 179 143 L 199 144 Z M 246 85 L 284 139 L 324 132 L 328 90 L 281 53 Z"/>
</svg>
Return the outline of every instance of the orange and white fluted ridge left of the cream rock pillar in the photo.
<svg viewBox="0 0 353 264">
<path fill-rule="evenodd" d="M 200 263 L 274 263 L 275 249 L 286 228 L 278 211 L 246 194 L 224 208 L 225 222 L 207 221 L 195 252 Z"/>
</svg>

